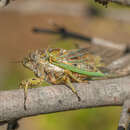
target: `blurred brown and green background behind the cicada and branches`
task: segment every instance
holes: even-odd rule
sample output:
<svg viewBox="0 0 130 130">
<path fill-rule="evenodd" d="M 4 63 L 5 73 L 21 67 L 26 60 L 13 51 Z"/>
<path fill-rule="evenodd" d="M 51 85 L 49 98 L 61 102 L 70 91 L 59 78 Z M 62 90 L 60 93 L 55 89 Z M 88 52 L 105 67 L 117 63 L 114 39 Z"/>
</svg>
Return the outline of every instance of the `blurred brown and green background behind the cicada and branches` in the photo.
<svg viewBox="0 0 130 130">
<path fill-rule="evenodd" d="M 43 33 L 36 33 L 36 28 L 43 29 Z M 76 37 L 63 35 L 66 31 Z M 105 8 L 93 0 L 11 2 L 0 9 L 0 90 L 18 89 L 21 80 L 34 76 L 22 65 L 12 63 L 21 60 L 30 50 L 48 46 L 90 47 L 89 40 L 85 40 L 87 36 L 129 44 L 129 8 L 114 4 Z M 93 48 L 95 53 L 106 52 L 105 48 L 98 51 Z M 120 111 L 120 107 L 104 107 L 40 115 L 21 119 L 19 130 L 115 130 Z M 0 130 L 5 127 L 0 126 Z"/>
</svg>

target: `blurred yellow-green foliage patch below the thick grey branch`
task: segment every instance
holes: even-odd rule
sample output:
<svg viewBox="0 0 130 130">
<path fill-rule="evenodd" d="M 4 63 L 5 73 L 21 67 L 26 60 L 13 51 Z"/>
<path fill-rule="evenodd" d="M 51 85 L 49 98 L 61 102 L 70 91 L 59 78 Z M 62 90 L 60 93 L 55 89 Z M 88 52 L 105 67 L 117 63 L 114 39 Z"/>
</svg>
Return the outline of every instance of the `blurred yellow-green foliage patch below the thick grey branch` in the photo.
<svg viewBox="0 0 130 130">
<path fill-rule="evenodd" d="M 119 107 L 82 109 L 39 116 L 41 130 L 115 130 Z"/>
</svg>

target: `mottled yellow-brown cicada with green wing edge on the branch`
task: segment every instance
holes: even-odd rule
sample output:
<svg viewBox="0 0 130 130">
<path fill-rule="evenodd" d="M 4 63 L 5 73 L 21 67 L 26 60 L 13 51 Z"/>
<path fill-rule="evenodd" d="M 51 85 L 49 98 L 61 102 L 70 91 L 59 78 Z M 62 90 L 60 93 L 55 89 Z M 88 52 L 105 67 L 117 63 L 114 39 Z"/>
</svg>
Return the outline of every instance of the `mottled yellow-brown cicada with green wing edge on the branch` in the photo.
<svg viewBox="0 0 130 130">
<path fill-rule="evenodd" d="M 80 101 L 81 98 L 72 82 L 88 82 L 94 77 L 106 76 L 101 71 L 104 68 L 102 59 L 88 53 L 86 48 L 73 51 L 60 48 L 35 50 L 24 57 L 21 62 L 36 76 L 20 83 L 20 88 L 24 88 L 25 102 L 28 88 L 40 85 L 43 81 L 51 84 L 65 84 Z"/>
</svg>

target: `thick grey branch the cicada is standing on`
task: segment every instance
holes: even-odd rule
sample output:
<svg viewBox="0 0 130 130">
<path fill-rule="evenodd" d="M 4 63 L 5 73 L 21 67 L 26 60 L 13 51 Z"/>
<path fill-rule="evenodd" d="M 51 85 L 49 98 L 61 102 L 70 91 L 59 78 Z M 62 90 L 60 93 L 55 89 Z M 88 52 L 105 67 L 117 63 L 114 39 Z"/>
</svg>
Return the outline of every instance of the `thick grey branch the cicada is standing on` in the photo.
<svg viewBox="0 0 130 130">
<path fill-rule="evenodd" d="M 53 112 L 122 106 L 130 96 L 130 77 L 90 81 L 74 84 L 81 101 L 64 85 L 32 88 L 28 90 L 27 110 L 24 110 L 22 89 L 0 92 L 0 121 Z"/>
</svg>

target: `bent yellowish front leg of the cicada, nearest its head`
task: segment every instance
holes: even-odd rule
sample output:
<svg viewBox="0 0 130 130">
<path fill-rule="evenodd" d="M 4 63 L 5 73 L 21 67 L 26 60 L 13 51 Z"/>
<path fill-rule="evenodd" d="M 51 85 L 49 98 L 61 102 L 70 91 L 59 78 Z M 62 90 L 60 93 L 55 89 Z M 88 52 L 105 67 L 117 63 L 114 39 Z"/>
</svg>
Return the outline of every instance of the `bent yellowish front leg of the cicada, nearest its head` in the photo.
<svg viewBox="0 0 130 130">
<path fill-rule="evenodd" d="M 43 82 L 43 78 L 31 78 L 28 80 L 23 80 L 20 83 L 20 88 L 24 88 L 24 109 L 26 110 L 26 100 L 27 100 L 27 91 L 28 88 L 32 88 L 33 86 L 40 85 Z"/>
</svg>

